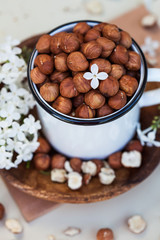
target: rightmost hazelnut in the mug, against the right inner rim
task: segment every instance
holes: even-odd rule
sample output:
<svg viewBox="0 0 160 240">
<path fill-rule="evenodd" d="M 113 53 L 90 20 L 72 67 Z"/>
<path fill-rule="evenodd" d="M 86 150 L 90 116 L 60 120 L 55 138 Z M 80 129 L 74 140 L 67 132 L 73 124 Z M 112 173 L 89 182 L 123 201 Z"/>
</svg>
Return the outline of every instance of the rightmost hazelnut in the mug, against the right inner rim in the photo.
<svg viewBox="0 0 160 240">
<path fill-rule="evenodd" d="M 129 54 L 129 60 L 125 64 L 125 67 L 131 71 L 132 70 L 138 71 L 141 67 L 141 58 L 139 54 L 134 51 L 129 51 L 128 54 Z"/>
</svg>

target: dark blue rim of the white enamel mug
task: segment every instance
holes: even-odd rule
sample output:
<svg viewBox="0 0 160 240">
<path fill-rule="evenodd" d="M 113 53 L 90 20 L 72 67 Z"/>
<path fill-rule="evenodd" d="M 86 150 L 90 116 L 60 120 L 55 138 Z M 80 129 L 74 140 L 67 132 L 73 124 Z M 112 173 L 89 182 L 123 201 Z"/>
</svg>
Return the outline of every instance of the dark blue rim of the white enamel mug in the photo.
<svg viewBox="0 0 160 240">
<path fill-rule="evenodd" d="M 50 32 L 48 32 L 49 35 L 52 35 L 56 30 L 59 30 L 63 27 L 66 26 L 70 26 L 70 25 L 76 25 L 79 22 L 87 22 L 90 25 L 96 25 L 101 23 L 100 21 L 93 21 L 93 20 L 78 20 L 78 21 L 73 21 L 73 22 L 69 22 L 66 24 L 62 24 L 54 29 L 52 29 Z M 121 29 L 120 29 L 121 30 Z M 54 35 L 54 34 L 53 34 Z M 27 78 L 28 78 L 28 83 L 29 83 L 29 87 L 30 90 L 34 96 L 34 98 L 36 99 L 36 101 L 38 102 L 38 104 L 45 110 L 47 111 L 51 116 L 64 121 L 66 123 L 70 123 L 70 124 L 76 124 L 76 125 L 87 125 L 87 126 L 93 126 L 93 125 L 97 125 L 97 124 L 104 124 L 107 122 L 111 122 L 114 121 L 120 117 L 122 117 L 123 115 L 125 115 L 127 112 L 129 112 L 139 101 L 140 97 L 142 96 L 145 86 L 146 86 L 146 82 L 147 82 L 147 63 L 146 63 L 146 59 L 145 56 L 140 48 L 140 46 L 137 44 L 137 42 L 132 38 L 132 48 L 134 48 L 134 50 L 136 50 L 136 52 L 138 52 L 140 54 L 141 57 L 141 69 L 143 69 L 143 76 L 141 76 L 142 79 L 142 84 L 141 86 L 138 88 L 138 91 L 136 91 L 136 93 L 133 95 L 133 97 L 129 100 L 129 102 L 120 110 L 115 111 L 112 114 L 109 114 L 107 116 L 104 117 L 98 117 L 98 118 L 76 118 L 76 117 L 72 117 L 66 114 L 63 114 L 57 110 L 55 110 L 54 108 L 52 108 L 40 95 L 37 86 L 35 83 L 32 82 L 31 77 L 30 77 L 30 72 L 33 69 L 34 66 L 34 59 L 35 57 L 38 55 L 38 51 L 36 50 L 36 48 L 34 48 L 30 59 L 29 59 L 29 63 L 28 63 L 28 68 L 27 68 Z M 142 73 L 141 73 L 142 74 Z"/>
</svg>

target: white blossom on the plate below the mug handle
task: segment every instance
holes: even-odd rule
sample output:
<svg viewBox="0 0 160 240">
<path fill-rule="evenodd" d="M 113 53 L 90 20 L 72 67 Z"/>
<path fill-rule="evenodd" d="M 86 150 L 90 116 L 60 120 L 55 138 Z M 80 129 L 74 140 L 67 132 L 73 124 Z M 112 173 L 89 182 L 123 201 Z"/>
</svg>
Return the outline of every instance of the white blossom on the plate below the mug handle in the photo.
<svg viewBox="0 0 160 240">
<path fill-rule="evenodd" d="M 157 129 L 156 128 L 153 129 L 152 126 L 142 131 L 140 123 L 138 123 L 137 125 L 137 135 L 143 146 L 146 144 L 149 147 L 152 146 L 160 147 L 160 142 L 155 140 L 156 133 Z"/>
</svg>

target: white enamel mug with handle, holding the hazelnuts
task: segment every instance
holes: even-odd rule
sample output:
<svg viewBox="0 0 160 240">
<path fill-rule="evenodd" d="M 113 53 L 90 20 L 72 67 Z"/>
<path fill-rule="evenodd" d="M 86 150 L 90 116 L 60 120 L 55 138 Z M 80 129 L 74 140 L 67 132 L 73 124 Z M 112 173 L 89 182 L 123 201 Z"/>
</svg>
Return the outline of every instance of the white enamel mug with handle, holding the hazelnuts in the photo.
<svg viewBox="0 0 160 240">
<path fill-rule="evenodd" d="M 49 34 L 52 36 L 58 32 L 72 31 L 77 22 L 57 27 Z M 99 23 L 95 21 L 86 22 L 90 26 Z M 137 91 L 122 109 L 108 116 L 93 119 L 80 119 L 65 115 L 53 109 L 41 97 L 36 85 L 30 78 L 30 71 L 34 68 L 34 60 L 38 54 L 36 49 L 33 51 L 28 65 L 29 86 L 37 101 L 37 110 L 43 126 L 43 133 L 57 151 L 68 157 L 79 157 L 84 160 L 104 159 L 108 155 L 121 150 L 133 138 L 139 121 L 140 107 L 160 103 L 160 89 L 143 93 L 147 80 L 160 82 L 160 69 L 148 69 L 147 71 L 145 57 L 134 40 L 132 49 L 139 53 L 141 57 L 140 80 Z"/>
</svg>

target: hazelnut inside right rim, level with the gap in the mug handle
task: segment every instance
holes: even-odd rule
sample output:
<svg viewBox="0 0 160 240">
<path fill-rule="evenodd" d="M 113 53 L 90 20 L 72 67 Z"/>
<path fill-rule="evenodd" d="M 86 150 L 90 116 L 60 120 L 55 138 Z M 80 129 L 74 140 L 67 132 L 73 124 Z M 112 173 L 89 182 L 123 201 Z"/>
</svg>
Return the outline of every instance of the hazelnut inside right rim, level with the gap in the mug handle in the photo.
<svg viewBox="0 0 160 240">
<path fill-rule="evenodd" d="M 119 81 L 119 86 L 127 96 L 131 97 L 138 88 L 138 81 L 136 78 L 124 75 Z"/>
</svg>

